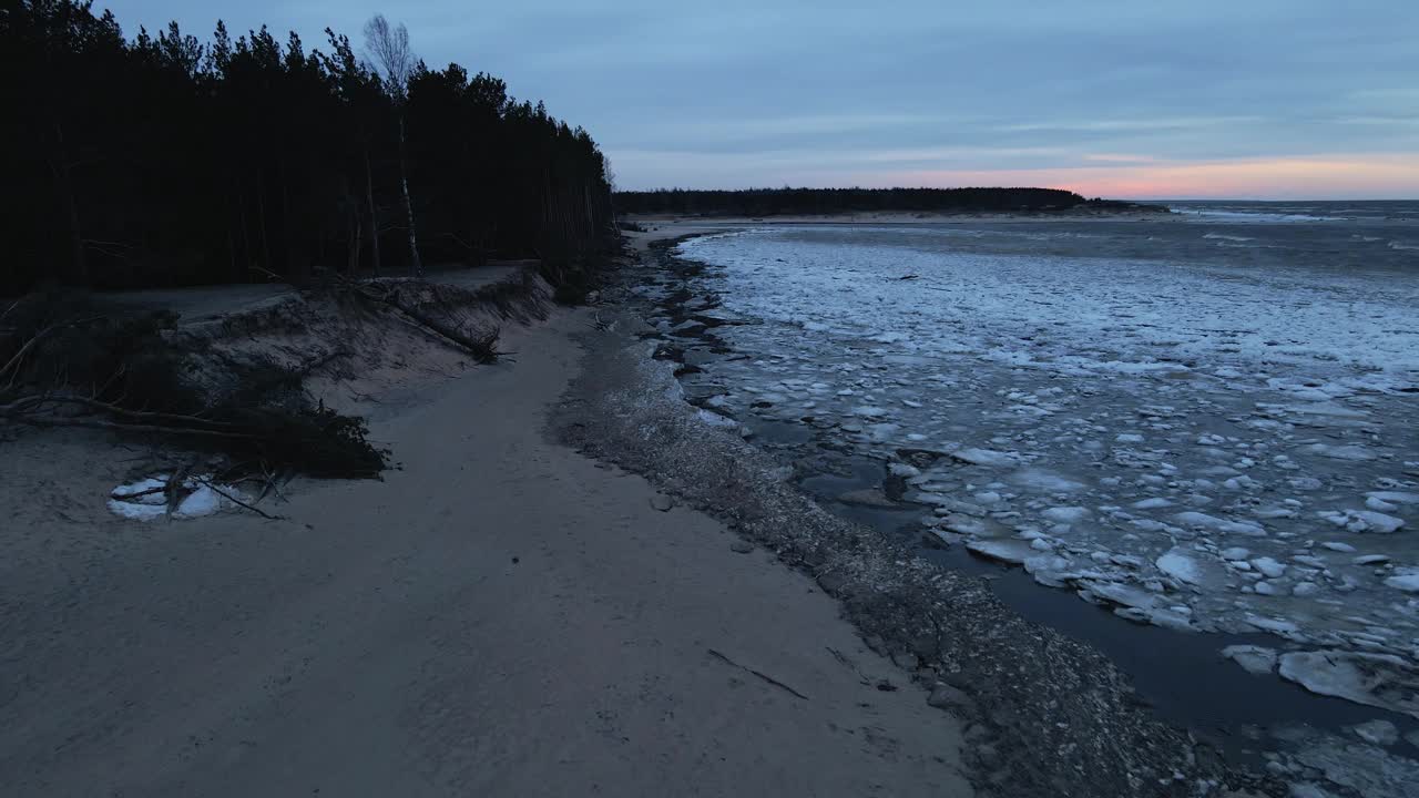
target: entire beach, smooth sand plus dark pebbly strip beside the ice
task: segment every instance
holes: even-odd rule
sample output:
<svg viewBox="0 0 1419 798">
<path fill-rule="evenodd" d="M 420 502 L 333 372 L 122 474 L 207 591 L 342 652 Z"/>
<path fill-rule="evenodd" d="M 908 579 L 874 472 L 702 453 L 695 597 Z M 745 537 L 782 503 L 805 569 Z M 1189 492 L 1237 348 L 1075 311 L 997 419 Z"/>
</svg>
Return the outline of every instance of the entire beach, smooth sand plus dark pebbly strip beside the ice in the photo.
<svg viewBox="0 0 1419 798">
<path fill-rule="evenodd" d="M 139 523 L 109 491 L 192 454 L 17 430 L 6 794 L 1284 794 L 687 402 L 675 319 L 633 297 L 690 297 L 657 244 L 727 226 L 627 236 L 576 311 L 511 266 L 437 275 L 525 291 L 470 310 L 507 322 L 485 366 L 304 294 L 233 293 L 241 324 L 220 290 L 128 297 L 221 345 L 359 342 L 307 388 L 393 469 Z"/>
</svg>

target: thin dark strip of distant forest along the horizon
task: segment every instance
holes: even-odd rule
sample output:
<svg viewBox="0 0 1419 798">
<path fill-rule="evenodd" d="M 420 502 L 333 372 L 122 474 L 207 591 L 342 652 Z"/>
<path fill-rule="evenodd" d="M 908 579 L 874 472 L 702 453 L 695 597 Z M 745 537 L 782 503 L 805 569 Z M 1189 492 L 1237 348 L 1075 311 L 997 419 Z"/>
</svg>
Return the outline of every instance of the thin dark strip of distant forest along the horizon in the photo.
<svg viewBox="0 0 1419 798">
<path fill-rule="evenodd" d="M 745 189 L 617 192 L 619 213 L 680 213 L 710 216 L 826 214 L 844 212 L 1050 212 L 1078 206 L 1142 207 L 1108 200 L 1086 200 L 1061 189 Z"/>
</svg>

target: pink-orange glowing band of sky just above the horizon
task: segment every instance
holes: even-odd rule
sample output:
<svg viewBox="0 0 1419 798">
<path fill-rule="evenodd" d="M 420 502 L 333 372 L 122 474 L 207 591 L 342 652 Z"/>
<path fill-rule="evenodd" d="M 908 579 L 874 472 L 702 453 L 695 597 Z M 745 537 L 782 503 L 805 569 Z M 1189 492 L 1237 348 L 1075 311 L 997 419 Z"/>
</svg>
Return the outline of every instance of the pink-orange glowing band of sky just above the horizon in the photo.
<svg viewBox="0 0 1419 798">
<path fill-rule="evenodd" d="M 1110 163 L 1114 159 L 1097 159 Z M 1118 199 L 1416 199 L 1419 155 L 1357 155 L 863 175 L 874 186 L 1044 186 Z"/>
</svg>

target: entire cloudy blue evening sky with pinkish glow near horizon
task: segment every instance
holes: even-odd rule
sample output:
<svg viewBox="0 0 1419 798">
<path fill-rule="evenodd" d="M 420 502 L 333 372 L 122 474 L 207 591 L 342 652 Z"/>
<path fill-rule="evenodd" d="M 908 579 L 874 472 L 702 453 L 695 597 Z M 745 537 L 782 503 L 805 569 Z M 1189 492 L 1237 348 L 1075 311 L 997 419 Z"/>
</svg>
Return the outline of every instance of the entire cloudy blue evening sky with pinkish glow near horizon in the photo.
<svg viewBox="0 0 1419 798">
<path fill-rule="evenodd" d="M 620 189 L 1047 186 L 1137 199 L 1419 199 L 1419 1 L 98 0 L 126 34 L 268 24 L 585 126 Z M 505 7 L 502 7 L 505 6 Z"/>
</svg>

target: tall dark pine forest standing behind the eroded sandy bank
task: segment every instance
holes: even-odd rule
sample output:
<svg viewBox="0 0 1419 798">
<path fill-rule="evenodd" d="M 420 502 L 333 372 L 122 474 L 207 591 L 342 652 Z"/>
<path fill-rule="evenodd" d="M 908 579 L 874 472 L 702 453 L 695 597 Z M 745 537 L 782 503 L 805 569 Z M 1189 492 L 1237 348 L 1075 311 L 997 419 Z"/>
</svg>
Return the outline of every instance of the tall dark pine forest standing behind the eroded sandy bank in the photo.
<svg viewBox="0 0 1419 798">
<path fill-rule="evenodd" d="M 10 1 L 0 87 L 0 295 L 575 257 L 612 229 L 586 131 L 427 68 L 382 17 L 360 51 L 331 30 L 308 50 L 220 21 L 129 40 L 91 1 Z"/>
</svg>

